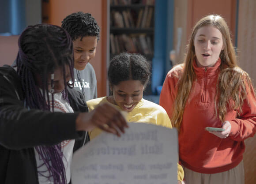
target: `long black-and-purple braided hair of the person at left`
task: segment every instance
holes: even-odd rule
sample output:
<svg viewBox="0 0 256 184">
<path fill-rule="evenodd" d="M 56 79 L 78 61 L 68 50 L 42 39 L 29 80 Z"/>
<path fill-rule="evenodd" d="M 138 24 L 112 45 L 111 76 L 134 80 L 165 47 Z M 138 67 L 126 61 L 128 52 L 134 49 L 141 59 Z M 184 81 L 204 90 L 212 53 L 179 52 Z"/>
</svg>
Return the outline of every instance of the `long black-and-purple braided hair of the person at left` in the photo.
<svg viewBox="0 0 256 184">
<path fill-rule="evenodd" d="M 26 107 L 50 111 L 48 78 L 58 67 L 63 69 L 65 89 L 62 94 L 64 99 L 68 100 L 67 86 L 74 87 L 74 53 L 72 40 L 66 30 L 47 24 L 28 26 L 19 37 L 19 53 L 16 62 Z M 72 83 L 66 81 L 65 66 L 67 65 Z M 39 74 L 42 79 L 40 86 L 42 93 L 36 85 L 34 74 Z M 54 102 L 53 95 L 51 96 Z M 54 109 L 53 104 L 52 109 Z M 52 146 L 40 145 L 35 149 L 49 171 L 49 177 L 47 177 L 53 177 L 54 184 L 67 184 L 62 160 L 64 155 L 60 143 Z M 38 174 L 44 176 L 43 173 Z"/>
</svg>

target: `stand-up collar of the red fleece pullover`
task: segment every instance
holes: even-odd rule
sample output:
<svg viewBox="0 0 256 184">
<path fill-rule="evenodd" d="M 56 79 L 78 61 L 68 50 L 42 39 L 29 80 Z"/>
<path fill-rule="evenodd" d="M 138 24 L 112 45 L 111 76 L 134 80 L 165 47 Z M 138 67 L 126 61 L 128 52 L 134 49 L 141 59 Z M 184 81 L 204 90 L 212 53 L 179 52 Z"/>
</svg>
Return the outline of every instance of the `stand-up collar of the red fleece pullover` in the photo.
<svg viewBox="0 0 256 184">
<path fill-rule="evenodd" d="M 213 75 L 218 74 L 220 64 L 221 64 L 221 59 L 218 58 L 217 62 L 213 67 L 198 67 L 195 59 L 193 61 L 193 68 L 197 76 L 204 77 L 205 73 L 207 73 L 207 77 L 211 77 Z"/>
</svg>

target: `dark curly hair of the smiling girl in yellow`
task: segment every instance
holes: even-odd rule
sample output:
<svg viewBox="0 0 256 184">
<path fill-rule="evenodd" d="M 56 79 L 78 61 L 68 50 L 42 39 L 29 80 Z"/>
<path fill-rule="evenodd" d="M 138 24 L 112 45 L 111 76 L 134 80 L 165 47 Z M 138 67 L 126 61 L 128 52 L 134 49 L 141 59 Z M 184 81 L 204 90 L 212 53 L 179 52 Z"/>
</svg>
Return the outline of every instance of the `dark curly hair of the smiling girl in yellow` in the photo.
<svg viewBox="0 0 256 184">
<path fill-rule="evenodd" d="M 110 61 L 108 78 L 111 86 L 132 79 L 139 80 L 146 87 L 150 75 L 151 66 L 141 54 L 120 53 Z"/>
</svg>

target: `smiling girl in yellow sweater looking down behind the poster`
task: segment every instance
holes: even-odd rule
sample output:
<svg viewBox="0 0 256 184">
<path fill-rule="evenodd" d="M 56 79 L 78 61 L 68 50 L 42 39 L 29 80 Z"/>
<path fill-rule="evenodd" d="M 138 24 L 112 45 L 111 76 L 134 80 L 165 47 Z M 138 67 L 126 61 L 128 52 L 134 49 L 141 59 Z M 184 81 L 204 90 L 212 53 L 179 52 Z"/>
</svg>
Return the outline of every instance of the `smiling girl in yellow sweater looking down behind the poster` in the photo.
<svg viewBox="0 0 256 184">
<path fill-rule="evenodd" d="M 109 66 L 108 78 L 112 95 L 87 101 L 89 111 L 104 102 L 128 113 L 128 122 L 143 122 L 172 128 L 166 111 L 151 101 L 143 99 L 143 90 L 150 77 L 150 64 L 145 57 L 135 53 L 121 53 L 115 56 Z M 94 139 L 101 133 L 94 129 L 89 133 Z M 178 182 L 183 180 L 184 172 L 178 165 Z"/>
</svg>

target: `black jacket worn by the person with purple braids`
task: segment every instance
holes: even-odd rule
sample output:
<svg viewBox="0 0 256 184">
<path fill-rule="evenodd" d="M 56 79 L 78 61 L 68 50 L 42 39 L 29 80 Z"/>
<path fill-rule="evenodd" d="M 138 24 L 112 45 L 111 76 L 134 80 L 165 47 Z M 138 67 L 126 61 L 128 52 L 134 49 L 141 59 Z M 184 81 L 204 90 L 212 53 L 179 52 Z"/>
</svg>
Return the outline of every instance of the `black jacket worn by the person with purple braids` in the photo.
<svg viewBox="0 0 256 184">
<path fill-rule="evenodd" d="M 89 141 L 75 130 L 77 112 L 88 112 L 82 94 L 68 89 L 75 113 L 51 113 L 24 107 L 19 75 L 0 67 L 0 184 L 38 184 L 34 146 L 75 139 L 74 150 Z"/>
</svg>

